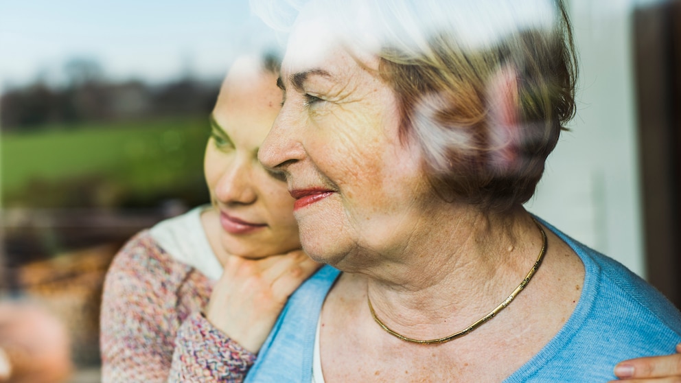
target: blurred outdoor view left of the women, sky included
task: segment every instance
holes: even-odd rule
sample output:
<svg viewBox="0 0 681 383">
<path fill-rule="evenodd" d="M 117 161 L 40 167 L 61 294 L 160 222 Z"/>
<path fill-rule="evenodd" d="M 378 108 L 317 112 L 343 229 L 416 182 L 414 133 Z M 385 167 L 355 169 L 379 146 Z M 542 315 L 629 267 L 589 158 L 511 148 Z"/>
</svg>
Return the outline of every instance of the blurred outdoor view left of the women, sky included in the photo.
<svg viewBox="0 0 681 383">
<path fill-rule="evenodd" d="M 247 0 L 0 0 L 0 304 L 65 325 L 73 382 L 100 381 L 119 247 L 209 201 L 208 114 L 231 60 L 277 47 Z"/>
</svg>

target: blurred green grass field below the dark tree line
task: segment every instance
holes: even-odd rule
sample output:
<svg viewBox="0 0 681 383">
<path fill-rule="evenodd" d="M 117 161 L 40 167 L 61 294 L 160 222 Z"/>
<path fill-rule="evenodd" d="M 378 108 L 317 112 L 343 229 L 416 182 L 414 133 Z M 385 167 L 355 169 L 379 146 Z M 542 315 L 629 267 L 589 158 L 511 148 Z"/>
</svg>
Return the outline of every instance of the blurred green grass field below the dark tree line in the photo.
<svg viewBox="0 0 681 383">
<path fill-rule="evenodd" d="M 110 194 L 142 199 L 196 188 L 196 183 L 203 187 L 208 135 L 205 115 L 3 133 L 2 205 L 60 207 L 60 200 L 78 205 L 73 196 L 54 194 L 86 183 L 101 183 L 100 189 L 108 188 Z"/>
</svg>

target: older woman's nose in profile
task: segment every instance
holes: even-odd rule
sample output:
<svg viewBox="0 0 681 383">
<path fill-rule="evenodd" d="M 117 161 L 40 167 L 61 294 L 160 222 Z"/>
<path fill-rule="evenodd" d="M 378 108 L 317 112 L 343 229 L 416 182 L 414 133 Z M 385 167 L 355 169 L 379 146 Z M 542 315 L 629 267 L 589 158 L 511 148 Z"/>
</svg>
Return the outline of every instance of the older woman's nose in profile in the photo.
<svg viewBox="0 0 681 383">
<path fill-rule="evenodd" d="M 284 104 L 257 152 L 257 158 L 264 167 L 286 172 L 290 164 L 304 158 L 305 150 L 297 137 L 299 125 L 290 108 Z"/>
</svg>

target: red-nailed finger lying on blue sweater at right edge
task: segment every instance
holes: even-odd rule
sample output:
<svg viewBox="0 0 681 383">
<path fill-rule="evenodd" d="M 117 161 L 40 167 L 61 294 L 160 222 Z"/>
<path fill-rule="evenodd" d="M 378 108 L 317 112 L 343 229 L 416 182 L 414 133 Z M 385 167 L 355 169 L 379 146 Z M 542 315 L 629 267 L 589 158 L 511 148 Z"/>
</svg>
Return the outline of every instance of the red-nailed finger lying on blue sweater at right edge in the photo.
<svg viewBox="0 0 681 383">
<path fill-rule="evenodd" d="M 617 378 L 665 378 L 681 376 L 681 354 L 625 360 L 614 369 Z"/>
</svg>

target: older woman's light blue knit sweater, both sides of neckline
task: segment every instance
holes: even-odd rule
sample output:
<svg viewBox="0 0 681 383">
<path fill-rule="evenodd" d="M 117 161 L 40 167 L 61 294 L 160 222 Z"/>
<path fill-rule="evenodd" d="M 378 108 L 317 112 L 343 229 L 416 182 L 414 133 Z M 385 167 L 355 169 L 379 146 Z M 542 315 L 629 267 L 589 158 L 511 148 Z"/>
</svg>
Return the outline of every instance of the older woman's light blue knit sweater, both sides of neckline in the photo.
<svg viewBox="0 0 681 383">
<path fill-rule="evenodd" d="M 584 262 L 584 287 L 564 327 L 505 382 L 606 382 L 622 360 L 674 352 L 681 341 L 676 307 L 614 259 L 542 223 Z M 312 380 L 316 325 L 338 274 L 325 266 L 292 295 L 246 382 Z"/>
</svg>

